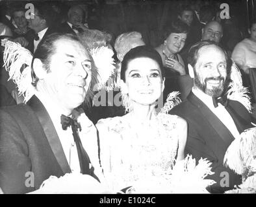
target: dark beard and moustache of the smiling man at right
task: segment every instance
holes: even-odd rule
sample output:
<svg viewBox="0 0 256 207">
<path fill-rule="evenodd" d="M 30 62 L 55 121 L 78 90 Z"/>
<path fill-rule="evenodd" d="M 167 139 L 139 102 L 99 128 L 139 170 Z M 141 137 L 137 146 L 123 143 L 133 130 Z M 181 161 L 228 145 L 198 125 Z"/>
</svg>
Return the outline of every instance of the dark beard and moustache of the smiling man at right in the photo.
<svg viewBox="0 0 256 207">
<path fill-rule="evenodd" d="M 207 88 L 207 81 L 208 80 L 219 80 L 222 81 L 222 85 L 219 85 L 218 87 L 212 87 L 212 89 Z M 196 87 L 201 89 L 205 94 L 212 96 L 214 98 L 218 98 L 222 95 L 224 92 L 224 86 L 225 86 L 225 78 L 220 77 L 220 78 L 205 78 L 203 82 L 201 82 L 199 75 L 195 72 L 195 77 L 194 77 L 194 84 Z"/>
</svg>

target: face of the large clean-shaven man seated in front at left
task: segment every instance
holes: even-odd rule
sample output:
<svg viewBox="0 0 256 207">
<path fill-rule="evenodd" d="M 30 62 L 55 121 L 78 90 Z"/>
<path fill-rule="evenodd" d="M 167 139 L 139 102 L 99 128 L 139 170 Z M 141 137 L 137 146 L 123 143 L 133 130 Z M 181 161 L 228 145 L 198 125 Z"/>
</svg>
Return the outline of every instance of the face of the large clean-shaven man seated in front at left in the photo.
<svg viewBox="0 0 256 207">
<path fill-rule="evenodd" d="M 84 102 L 90 86 L 91 59 L 83 45 L 71 39 L 58 39 L 54 47 L 45 86 L 61 107 L 72 110 Z"/>
</svg>

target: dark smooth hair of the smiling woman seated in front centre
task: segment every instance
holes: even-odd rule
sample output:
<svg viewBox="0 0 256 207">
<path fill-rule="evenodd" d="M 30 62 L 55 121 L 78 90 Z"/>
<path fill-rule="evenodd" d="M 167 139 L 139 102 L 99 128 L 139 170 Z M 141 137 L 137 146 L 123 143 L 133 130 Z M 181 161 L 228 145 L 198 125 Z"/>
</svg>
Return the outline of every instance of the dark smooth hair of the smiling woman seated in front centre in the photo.
<svg viewBox="0 0 256 207">
<path fill-rule="evenodd" d="M 162 79 L 164 78 L 164 67 L 162 65 L 162 58 L 160 57 L 159 53 L 157 50 L 153 49 L 153 47 L 142 45 L 129 50 L 129 52 L 127 52 L 127 54 L 125 54 L 123 57 L 121 66 L 121 79 L 123 82 L 125 82 L 125 71 L 127 70 L 129 62 L 136 58 L 151 58 L 152 60 L 155 60 L 159 64 Z"/>
</svg>

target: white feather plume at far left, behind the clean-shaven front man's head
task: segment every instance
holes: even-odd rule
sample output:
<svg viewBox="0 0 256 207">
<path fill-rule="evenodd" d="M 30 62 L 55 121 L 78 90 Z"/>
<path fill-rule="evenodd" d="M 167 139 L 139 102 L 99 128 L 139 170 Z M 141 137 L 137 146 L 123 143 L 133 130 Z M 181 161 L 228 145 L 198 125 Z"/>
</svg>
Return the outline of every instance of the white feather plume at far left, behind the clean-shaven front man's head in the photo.
<svg viewBox="0 0 256 207">
<path fill-rule="evenodd" d="M 27 102 L 34 94 L 34 87 L 31 84 L 31 52 L 21 47 L 19 43 L 6 41 L 3 61 L 10 76 L 9 80 L 16 83 L 19 96 L 23 95 L 24 102 Z"/>
</svg>

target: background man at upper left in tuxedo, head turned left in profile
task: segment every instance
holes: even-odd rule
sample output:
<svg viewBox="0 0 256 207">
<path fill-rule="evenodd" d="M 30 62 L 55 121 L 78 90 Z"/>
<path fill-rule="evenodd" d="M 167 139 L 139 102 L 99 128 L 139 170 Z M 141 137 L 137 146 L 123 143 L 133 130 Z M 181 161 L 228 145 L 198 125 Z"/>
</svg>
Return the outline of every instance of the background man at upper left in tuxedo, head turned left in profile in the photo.
<svg viewBox="0 0 256 207">
<path fill-rule="evenodd" d="M 34 12 L 29 17 L 28 27 L 34 30 L 34 34 L 27 37 L 29 46 L 27 47 L 32 53 L 36 51 L 38 44 L 50 34 L 58 32 L 56 28 L 51 27 L 51 23 L 55 21 L 53 10 L 45 5 L 45 3 L 34 3 Z"/>
</svg>

